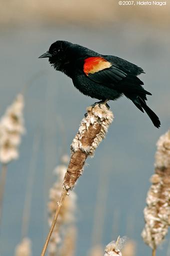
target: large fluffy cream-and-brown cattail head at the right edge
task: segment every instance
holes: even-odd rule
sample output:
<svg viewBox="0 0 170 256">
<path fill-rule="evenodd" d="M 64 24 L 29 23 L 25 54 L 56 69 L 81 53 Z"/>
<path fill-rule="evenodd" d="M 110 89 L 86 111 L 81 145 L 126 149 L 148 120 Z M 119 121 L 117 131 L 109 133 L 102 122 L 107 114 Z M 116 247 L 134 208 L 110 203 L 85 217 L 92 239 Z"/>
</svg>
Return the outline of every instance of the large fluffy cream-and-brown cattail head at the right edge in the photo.
<svg viewBox="0 0 170 256">
<path fill-rule="evenodd" d="M 141 235 L 144 242 L 155 250 L 170 225 L 170 131 L 157 142 L 155 174 L 150 181 L 152 185 L 147 193 L 145 226 Z"/>
</svg>

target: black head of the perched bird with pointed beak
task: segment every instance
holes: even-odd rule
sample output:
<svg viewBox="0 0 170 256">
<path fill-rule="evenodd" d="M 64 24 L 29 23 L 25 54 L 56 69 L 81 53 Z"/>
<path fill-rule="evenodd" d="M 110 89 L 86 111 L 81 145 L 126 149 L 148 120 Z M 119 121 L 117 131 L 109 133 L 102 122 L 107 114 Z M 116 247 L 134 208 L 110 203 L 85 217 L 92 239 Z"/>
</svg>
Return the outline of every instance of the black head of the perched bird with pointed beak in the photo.
<svg viewBox="0 0 170 256">
<path fill-rule="evenodd" d="M 72 45 L 66 41 L 56 41 L 49 47 L 49 50 L 39 58 L 49 58 L 49 63 L 56 70 L 62 71 L 62 66 L 68 63 L 67 48 Z"/>
</svg>

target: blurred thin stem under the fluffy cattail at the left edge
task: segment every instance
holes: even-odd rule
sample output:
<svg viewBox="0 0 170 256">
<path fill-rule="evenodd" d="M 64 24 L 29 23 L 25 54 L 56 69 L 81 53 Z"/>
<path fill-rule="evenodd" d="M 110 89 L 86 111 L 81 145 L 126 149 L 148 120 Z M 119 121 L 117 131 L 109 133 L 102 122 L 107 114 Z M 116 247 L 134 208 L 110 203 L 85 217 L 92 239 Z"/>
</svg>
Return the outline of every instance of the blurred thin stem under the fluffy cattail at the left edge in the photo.
<svg viewBox="0 0 170 256">
<path fill-rule="evenodd" d="M 2 170 L 0 174 L 0 223 L 2 219 L 2 204 L 3 204 L 4 187 L 6 183 L 6 173 L 7 173 L 7 166 L 6 164 L 2 164 Z"/>
</svg>

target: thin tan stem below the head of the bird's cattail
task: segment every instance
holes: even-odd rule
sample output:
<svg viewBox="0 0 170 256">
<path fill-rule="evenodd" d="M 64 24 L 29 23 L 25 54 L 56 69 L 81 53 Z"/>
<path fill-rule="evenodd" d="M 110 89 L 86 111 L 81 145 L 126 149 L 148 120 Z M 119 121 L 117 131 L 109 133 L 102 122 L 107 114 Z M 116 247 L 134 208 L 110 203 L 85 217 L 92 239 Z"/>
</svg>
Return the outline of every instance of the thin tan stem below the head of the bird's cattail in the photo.
<svg viewBox="0 0 170 256">
<path fill-rule="evenodd" d="M 47 235 L 47 237 L 46 237 L 46 241 L 45 241 L 45 243 L 44 243 L 44 245 L 43 245 L 43 249 L 42 249 L 42 251 L 41 251 L 41 256 L 44 256 L 44 255 L 45 255 L 45 251 L 46 251 L 46 248 L 47 248 L 49 239 L 50 239 L 51 234 L 52 234 L 52 231 L 53 231 L 53 229 L 54 229 L 54 227 L 55 227 L 55 223 L 56 223 L 56 220 L 57 220 L 57 217 L 58 217 L 60 208 L 61 208 L 61 206 L 62 206 L 62 204 L 63 204 L 63 202 L 64 202 L 64 200 L 65 200 L 65 197 L 66 197 L 66 195 L 67 195 L 67 192 L 68 192 L 68 190 L 66 190 L 65 188 L 63 188 L 62 194 L 61 194 L 61 197 L 60 197 L 60 200 L 59 200 L 59 202 L 57 203 L 56 211 L 55 211 L 55 214 L 54 214 L 54 216 L 53 216 L 52 224 L 51 224 L 51 226 L 50 226 L 48 235 Z"/>
</svg>

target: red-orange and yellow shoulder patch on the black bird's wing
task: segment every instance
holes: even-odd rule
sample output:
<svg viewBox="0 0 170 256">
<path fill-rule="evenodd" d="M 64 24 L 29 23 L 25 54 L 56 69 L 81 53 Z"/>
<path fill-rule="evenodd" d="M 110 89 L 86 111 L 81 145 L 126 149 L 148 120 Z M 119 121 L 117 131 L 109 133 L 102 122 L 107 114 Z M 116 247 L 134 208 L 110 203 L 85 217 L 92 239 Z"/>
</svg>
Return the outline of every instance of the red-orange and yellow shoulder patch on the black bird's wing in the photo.
<svg viewBox="0 0 170 256">
<path fill-rule="evenodd" d="M 84 60 L 83 71 L 86 75 L 94 74 L 111 66 L 112 64 L 102 57 L 89 57 Z"/>
</svg>

